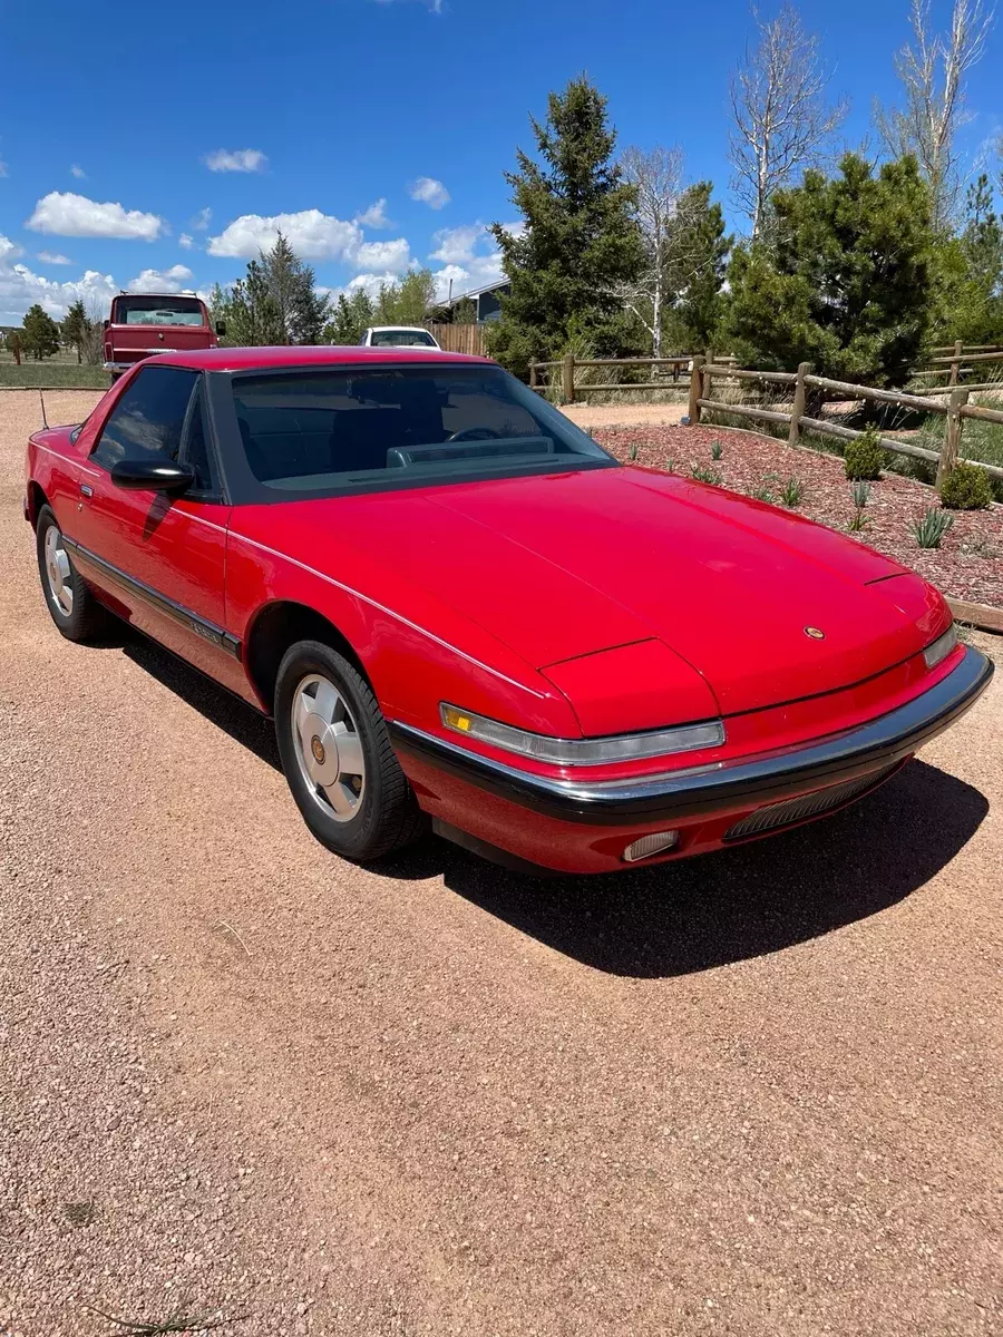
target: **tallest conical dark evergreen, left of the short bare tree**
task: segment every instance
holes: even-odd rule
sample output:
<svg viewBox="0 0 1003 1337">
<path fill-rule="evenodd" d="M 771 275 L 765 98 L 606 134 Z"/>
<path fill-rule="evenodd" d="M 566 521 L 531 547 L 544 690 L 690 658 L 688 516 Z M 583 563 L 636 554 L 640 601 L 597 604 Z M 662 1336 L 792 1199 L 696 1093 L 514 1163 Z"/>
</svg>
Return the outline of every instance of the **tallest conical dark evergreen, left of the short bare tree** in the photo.
<svg viewBox="0 0 1003 1337">
<path fill-rule="evenodd" d="M 511 294 L 489 344 L 520 374 L 572 337 L 599 356 L 634 352 L 638 334 L 617 293 L 645 263 L 634 193 L 612 162 L 606 99 L 583 75 L 550 95 L 546 124 L 531 124 L 540 160 L 519 150 L 519 170 L 506 172 L 526 230 L 492 226 Z"/>
</svg>

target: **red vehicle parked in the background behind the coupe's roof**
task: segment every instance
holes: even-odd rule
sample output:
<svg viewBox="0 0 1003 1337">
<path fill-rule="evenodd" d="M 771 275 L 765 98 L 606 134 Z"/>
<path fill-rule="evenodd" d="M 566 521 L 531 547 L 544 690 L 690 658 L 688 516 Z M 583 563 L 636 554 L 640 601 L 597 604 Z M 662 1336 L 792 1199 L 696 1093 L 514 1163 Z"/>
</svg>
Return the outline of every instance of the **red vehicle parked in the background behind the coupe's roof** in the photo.
<svg viewBox="0 0 1003 1337">
<path fill-rule="evenodd" d="M 104 322 L 104 370 L 112 380 L 155 353 L 190 353 L 217 348 L 225 334 L 215 329 L 206 303 L 187 294 L 120 293 L 112 298 L 111 318 Z"/>
</svg>

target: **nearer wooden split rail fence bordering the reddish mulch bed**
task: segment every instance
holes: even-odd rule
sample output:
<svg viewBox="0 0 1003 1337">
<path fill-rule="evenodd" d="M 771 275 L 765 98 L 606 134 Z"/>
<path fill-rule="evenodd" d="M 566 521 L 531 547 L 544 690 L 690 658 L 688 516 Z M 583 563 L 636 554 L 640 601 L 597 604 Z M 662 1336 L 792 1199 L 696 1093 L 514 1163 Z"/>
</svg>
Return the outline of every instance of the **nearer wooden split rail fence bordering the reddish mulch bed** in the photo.
<svg viewBox="0 0 1003 1337">
<path fill-rule="evenodd" d="M 1003 361 L 1003 353 L 976 353 L 972 360 Z M 729 404 L 725 400 L 711 398 L 713 382 L 723 378 L 738 381 L 758 381 L 766 385 L 790 386 L 793 404 L 790 412 L 777 409 L 764 409 L 750 404 Z M 693 358 L 690 372 L 690 424 L 699 422 L 703 409 L 730 414 L 738 418 L 749 418 L 753 422 L 773 422 L 788 428 L 788 443 L 798 445 L 802 432 L 817 432 L 820 436 L 837 437 L 841 441 L 853 441 L 863 432 L 841 427 L 839 422 L 829 422 L 824 418 L 809 417 L 805 413 L 809 392 L 821 390 L 825 396 L 839 396 L 843 400 L 872 400 L 877 404 L 896 404 L 901 408 L 917 409 L 921 413 L 940 413 L 947 418 L 944 441 L 940 451 L 928 451 L 925 447 L 912 445 L 911 441 L 900 441 L 897 437 L 880 437 L 885 451 L 895 455 L 907 455 L 916 460 L 925 460 L 936 464 L 936 481 L 940 484 L 951 472 L 955 464 L 976 464 L 994 479 L 1003 479 L 1003 468 L 995 464 L 984 464 L 982 460 L 964 460 L 960 455 L 962 433 L 967 418 L 979 418 L 983 422 L 998 422 L 1003 425 L 1003 410 L 984 408 L 980 404 L 970 404 L 971 386 L 958 386 L 951 389 L 948 402 L 924 394 L 908 394 L 904 390 L 879 390 L 869 385 L 853 385 L 849 381 L 833 381 L 826 376 L 812 376 L 810 362 L 801 362 L 797 372 L 746 372 L 722 362 L 709 362 L 697 354 Z"/>
</svg>

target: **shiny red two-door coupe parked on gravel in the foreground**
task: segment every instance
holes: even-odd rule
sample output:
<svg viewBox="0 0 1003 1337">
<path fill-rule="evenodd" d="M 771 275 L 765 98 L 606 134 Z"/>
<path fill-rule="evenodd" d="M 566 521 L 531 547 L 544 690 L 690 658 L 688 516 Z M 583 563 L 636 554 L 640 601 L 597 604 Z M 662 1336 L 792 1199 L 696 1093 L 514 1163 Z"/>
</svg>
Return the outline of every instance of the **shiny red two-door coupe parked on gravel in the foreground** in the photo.
<svg viewBox="0 0 1003 1337">
<path fill-rule="evenodd" d="M 25 515 L 63 635 L 111 611 L 273 715 L 353 860 L 428 818 L 563 872 L 754 840 L 875 789 L 992 674 L 888 558 L 433 350 L 143 362 L 31 439 Z"/>
</svg>

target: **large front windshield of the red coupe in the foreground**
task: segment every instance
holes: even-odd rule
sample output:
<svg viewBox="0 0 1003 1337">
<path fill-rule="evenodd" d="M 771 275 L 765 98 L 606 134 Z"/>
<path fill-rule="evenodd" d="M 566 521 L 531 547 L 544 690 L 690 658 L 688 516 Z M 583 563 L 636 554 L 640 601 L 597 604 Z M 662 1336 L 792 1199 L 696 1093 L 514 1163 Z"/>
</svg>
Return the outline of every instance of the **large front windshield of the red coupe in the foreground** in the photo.
<svg viewBox="0 0 1003 1337">
<path fill-rule="evenodd" d="M 615 464 L 497 366 L 324 368 L 239 374 L 231 384 L 258 496 L 262 489 L 324 496 Z"/>
</svg>

